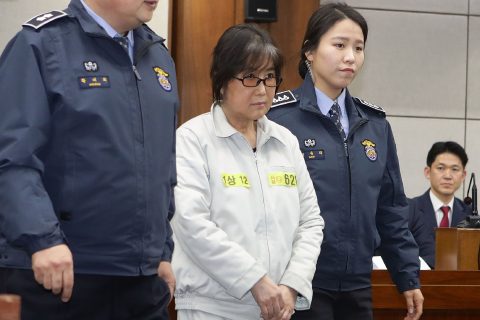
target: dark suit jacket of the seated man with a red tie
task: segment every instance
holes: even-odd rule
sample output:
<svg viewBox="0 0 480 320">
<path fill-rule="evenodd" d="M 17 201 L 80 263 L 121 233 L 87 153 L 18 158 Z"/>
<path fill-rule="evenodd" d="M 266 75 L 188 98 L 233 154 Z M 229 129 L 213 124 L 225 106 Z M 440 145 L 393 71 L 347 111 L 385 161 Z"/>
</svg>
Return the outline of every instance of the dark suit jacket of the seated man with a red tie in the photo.
<svg viewBox="0 0 480 320">
<path fill-rule="evenodd" d="M 438 228 L 437 218 L 433 211 L 430 199 L 430 189 L 421 196 L 408 199 L 410 218 L 408 226 L 420 249 L 420 256 L 432 268 L 435 267 L 435 229 Z M 453 202 L 452 221 L 450 225 L 456 227 L 458 223 L 471 215 L 472 210 L 463 201 L 455 198 Z"/>
</svg>

